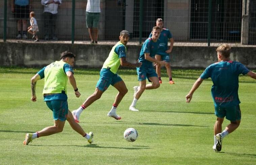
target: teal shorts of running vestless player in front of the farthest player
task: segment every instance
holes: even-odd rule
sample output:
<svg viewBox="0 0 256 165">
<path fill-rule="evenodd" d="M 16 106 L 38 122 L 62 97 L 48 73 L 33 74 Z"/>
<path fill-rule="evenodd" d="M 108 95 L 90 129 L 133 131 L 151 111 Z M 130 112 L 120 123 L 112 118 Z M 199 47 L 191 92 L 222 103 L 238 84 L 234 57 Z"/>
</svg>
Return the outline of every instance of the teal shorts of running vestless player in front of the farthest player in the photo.
<svg viewBox="0 0 256 165">
<path fill-rule="evenodd" d="M 154 68 L 137 67 L 137 74 L 138 74 L 139 81 L 143 81 L 147 78 L 148 81 L 151 82 L 149 77 L 158 77 L 157 73 L 155 73 Z"/>
</svg>

